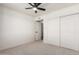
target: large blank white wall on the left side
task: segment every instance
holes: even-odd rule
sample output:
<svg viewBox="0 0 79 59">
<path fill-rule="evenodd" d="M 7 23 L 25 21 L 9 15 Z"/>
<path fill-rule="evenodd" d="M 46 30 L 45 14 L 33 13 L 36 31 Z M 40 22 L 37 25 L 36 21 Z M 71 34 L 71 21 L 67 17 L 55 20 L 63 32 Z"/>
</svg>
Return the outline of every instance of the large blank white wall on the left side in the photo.
<svg viewBox="0 0 79 59">
<path fill-rule="evenodd" d="M 34 41 L 34 18 L 0 7 L 0 50 Z"/>
</svg>

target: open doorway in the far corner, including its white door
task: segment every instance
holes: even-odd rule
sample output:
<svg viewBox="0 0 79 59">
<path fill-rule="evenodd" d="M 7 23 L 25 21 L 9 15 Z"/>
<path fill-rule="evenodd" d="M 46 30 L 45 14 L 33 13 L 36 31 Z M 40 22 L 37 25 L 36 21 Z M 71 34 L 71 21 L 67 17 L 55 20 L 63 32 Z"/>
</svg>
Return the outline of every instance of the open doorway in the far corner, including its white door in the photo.
<svg viewBox="0 0 79 59">
<path fill-rule="evenodd" d="M 35 40 L 43 40 L 43 21 L 36 21 Z"/>
</svg>

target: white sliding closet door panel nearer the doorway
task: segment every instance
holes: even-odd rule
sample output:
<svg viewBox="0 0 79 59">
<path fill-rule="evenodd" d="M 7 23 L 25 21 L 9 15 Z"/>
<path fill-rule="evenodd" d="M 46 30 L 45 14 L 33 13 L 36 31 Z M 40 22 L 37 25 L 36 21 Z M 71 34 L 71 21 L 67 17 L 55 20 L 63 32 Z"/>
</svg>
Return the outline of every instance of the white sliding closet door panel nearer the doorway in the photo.
<svg viewBox="0 0 79 59">
<path fill-rule="evenodd" d="M 47 23 L 47 42 L 53 45 L 59 45 L 59 19 L 49 20 Z"/>
</svg>

